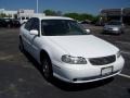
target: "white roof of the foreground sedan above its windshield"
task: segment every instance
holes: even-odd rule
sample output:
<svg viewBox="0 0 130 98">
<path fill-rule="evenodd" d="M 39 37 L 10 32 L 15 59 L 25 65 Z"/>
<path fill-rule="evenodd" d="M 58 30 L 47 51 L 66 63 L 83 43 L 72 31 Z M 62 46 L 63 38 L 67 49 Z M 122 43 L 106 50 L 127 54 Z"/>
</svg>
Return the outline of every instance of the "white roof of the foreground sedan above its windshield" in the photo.
<svg viewBox="0 0 130 98">
<path fill-rule="evenodd" d="M 38 17 L 39 20 L 73 20 L 70 17 L 65 17 L 65 16 L 34 16 Z"/>
</svg>

